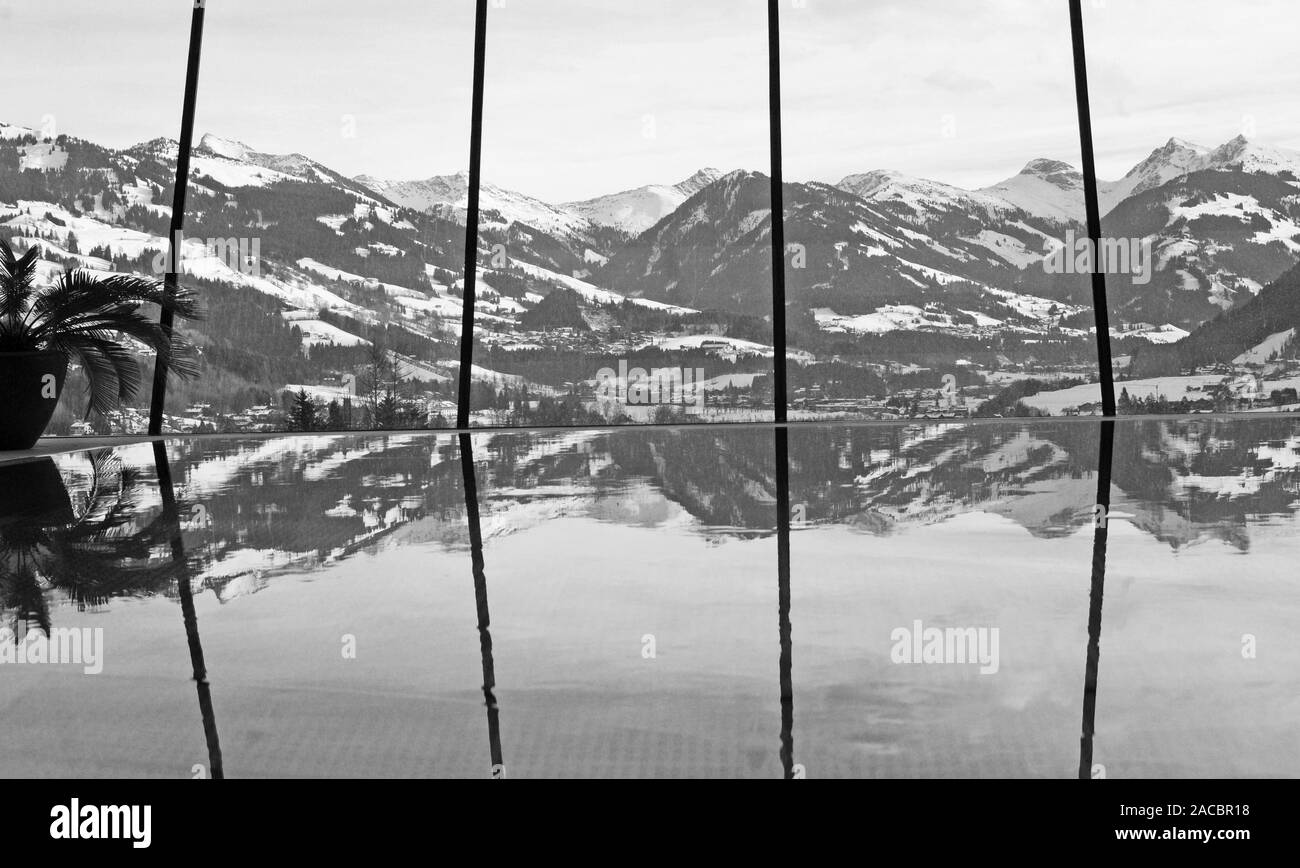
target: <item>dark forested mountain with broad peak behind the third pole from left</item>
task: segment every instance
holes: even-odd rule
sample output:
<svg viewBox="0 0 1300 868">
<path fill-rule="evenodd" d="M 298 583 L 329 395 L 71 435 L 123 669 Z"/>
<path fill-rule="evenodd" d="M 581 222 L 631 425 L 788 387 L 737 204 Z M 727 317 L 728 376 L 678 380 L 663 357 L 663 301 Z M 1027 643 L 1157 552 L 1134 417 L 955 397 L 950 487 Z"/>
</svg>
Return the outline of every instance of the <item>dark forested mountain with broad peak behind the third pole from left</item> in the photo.
<svg viewBox="0 0 1300 868">
<path fill-rule="evenodd" d="M 900 173 L 854 175 L 845 186 L 785 190 L 785 236 L 797 246 L 786 298 L 822 330 L 988 337 L 1041 331 L 1083 309 L 1071 301 L 1087 288 L 1078 275 L 1022 268 L 1050 249 L 1054 225 Z M 634 298 L 766 311 L 768 196 L 766 175 L 728 174 L 629 242 L 594 279 Z"/>
</svg>

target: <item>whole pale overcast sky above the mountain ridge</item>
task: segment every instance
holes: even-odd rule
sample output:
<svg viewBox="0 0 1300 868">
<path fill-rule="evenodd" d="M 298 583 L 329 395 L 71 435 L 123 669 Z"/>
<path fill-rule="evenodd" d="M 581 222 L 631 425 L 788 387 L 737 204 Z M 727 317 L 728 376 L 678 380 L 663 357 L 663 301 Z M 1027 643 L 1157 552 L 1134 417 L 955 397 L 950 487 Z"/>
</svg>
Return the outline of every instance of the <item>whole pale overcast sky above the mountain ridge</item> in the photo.
<svg viewBox="0 0 1300 868">
<path fill-rule="evenodd" d="M 767 170 L 763 0 L 499 0 L 485 178 L 554 201 Z M 179 129 L 190 0 L 0 0 L 0 120 L 110 146 Z M 1065 0 L 783 3 L 785 174 L 962 186 L 1078 165 Z M 1300 148 L 1290 0 L 1084 1 L 1097 169 L 1170 136 Z M 472 0 L 209 0 L 196 131 L 347 174 L 468 162 Z"/>
</svg>

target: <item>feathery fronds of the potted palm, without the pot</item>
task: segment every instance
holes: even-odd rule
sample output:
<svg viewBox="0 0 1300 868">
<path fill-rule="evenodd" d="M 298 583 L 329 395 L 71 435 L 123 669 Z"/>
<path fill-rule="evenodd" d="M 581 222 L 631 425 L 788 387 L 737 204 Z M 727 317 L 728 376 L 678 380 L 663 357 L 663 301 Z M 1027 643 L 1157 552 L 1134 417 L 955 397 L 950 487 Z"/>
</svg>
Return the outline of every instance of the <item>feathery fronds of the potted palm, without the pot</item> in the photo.
<svg viewBox="0 0 1300 868">
<path fill-rule="evenodd" d="M 20 257 L 0 240 L 0 353 L 53 350 L 79 363 L 96 413 L 131 399 L 140 386 L 131 342 L 151 350 L 155 364 L 168 373 L 198 374 L 192 347 L 146 314 L 146 305 L 156 304 L 177 317 L 196 318 L 191 291 L 169 292 L 159 281 L 81 268 L 38 287 L 39 259 L 39 247 Z"/>
</svg>

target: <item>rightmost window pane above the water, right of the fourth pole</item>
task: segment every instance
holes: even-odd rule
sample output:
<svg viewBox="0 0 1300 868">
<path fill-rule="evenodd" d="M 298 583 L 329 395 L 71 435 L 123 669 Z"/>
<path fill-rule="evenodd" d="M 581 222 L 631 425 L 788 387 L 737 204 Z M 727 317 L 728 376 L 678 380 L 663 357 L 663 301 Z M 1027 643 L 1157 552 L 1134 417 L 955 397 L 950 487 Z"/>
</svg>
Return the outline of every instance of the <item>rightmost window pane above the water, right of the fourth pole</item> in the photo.
<svg viewBox="0 0 1300 868">
<path fill-rule="evenodd" d="M 1086 6 L 1121 413 L 1300 408 L 1300 9 Z"/>
</svg>

